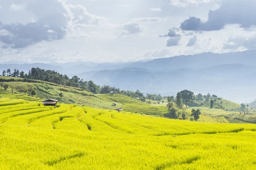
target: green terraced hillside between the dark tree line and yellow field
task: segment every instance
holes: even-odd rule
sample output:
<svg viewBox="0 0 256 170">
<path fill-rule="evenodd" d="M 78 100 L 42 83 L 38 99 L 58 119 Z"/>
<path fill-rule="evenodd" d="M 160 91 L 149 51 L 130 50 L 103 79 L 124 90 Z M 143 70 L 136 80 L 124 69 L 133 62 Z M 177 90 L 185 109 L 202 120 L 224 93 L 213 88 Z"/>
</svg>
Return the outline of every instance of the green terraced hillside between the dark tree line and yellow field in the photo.
<svg viewBox="0 0 256 170">
<path fill-rule="evenodd" d="M 151 115 L 163 115 L 163 113 L 167 112 L 166 107 L 151 106 L 145 102 L 141 102 L 137 99 L 133 99 L 131 97 L 119 94 L 96 95 L 84 91 L 80 88 L 73 88 L 49 82 L 22 78 L 0 77 L 0 81 L 1 80 L 5 81 L 4 83 L 9 85 L 9 88 L 7 90 L 10 93 L 16 93 L 14 95 L 24 95 L 26 97 L 29 97 L 28 99 L 32 100 L 38 100 L 39 98 L 51 98 L 58 99 L 59 102 L 64 104 L 76 104 L 79 106 L 88 106 L 92 108 L 111 110 L 122 108 L 124 111 L 131 111 Z M 13 90 L 11 87 L 13 88 Z M 0 90 L 1 89 L 4 90 L 3 87 L 0 87 Z M 37 97 L 31 96 L 32 90 L 37 91 Z M 0 96 L 5 97 L 5 95 L 3 94 L 0 94 Z M 117 103 L 116 106 L 113 106 L 114 102 Z"/>
</svg>

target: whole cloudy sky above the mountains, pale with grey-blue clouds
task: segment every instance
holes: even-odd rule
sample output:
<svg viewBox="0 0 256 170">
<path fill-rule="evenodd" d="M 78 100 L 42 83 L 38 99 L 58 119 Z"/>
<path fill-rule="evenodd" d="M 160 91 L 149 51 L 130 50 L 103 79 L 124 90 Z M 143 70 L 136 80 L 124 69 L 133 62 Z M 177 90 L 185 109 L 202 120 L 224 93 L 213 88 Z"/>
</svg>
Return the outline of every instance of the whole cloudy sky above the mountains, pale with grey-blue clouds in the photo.
<svg viewBox="0 0 256 170">
<path fill-rule="evenodd" d="M 256 49 L 256 0 L 0 0 L 0 62 Z"/>
</svg>

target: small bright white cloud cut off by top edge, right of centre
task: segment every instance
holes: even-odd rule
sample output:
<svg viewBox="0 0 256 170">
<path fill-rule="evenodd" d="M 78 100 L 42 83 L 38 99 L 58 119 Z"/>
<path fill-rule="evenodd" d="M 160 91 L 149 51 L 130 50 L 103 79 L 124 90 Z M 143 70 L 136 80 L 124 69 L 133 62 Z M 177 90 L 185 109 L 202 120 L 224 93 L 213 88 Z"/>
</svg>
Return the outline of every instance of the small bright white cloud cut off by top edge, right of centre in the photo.
<svg viewBox="0 0 256 170">
<path fill-rule="evenodd" d="M 177 7 L 198 6 L 200 3 L 211 3 L 218 0 L 170 0 L 171 5 Z"/>
</svg>

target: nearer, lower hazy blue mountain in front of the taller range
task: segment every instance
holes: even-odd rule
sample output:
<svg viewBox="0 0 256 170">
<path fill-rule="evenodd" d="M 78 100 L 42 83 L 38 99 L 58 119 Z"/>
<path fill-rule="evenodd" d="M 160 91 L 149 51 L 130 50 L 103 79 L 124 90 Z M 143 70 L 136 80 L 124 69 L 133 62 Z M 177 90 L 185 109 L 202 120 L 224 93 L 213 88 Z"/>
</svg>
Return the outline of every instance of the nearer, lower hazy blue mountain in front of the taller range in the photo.
<svg viewBox="0 0 256 170">
<path fill-rule="evenodd" d="M 141 68 L 103 70 L 79 74 L 99 85 L 148 93 L 172 94 L 189 89 L 195 93 L 214 93 L 236 102 L 250 101 L 245 93 L 255 94 L 255 66 L 242 64 L 218 65 L 209 68 L 183 68 L 172 71 L 150 71 Z"/>
</svg>

